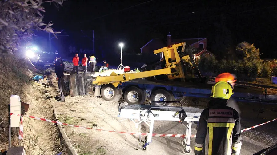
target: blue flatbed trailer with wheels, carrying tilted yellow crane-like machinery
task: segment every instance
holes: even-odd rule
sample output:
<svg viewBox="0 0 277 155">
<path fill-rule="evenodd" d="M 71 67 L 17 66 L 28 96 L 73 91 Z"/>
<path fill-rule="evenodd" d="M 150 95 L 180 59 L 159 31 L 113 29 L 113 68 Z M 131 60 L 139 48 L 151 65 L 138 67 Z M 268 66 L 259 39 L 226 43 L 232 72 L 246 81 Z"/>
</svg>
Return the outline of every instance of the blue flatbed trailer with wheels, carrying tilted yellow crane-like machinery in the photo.
<svg viewBox="0 0 277 155">
<path fill-rule="evenodd" d="M 183 96 L 210 97 L 212 84 L 201 83 L 207 78 L 200 74 L 185 42 L 155 50 L 154 54 L 164 55 L 162 69 L 123 74 L 112 72 L 104 77 L 92 77 L 91 72 L 65 76 L 62 78 L 64 94 L 101 96 L 106 101 L 118 101 L 123 95 L 127 103 L 139 105 L 150 97 L 151 102 L 159 106 Z M 166 75 L 167 81 L 145 79 L 158 75 Z M 276 104 L 276 90 L 277 87 L 237 85 L 232 97 L 237 101 Z"/>
</svg>

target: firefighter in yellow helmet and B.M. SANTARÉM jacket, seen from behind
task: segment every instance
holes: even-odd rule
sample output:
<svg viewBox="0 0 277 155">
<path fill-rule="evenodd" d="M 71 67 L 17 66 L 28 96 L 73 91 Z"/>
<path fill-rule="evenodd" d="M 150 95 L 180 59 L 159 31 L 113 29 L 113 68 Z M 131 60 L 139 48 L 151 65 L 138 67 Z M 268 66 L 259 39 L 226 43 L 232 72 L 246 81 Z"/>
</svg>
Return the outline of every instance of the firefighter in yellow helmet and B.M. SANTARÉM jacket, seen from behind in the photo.
<svg viewBox="0 0 277 155">
<path fill-rule="evenodd" d="M 195 155 L 239 155 L 241 125 L 238 112 L 228 107 L 232 86 L 219 81 L 211 90 L 210 107 L 200 115 L 195 138 Z"/>
</svg>

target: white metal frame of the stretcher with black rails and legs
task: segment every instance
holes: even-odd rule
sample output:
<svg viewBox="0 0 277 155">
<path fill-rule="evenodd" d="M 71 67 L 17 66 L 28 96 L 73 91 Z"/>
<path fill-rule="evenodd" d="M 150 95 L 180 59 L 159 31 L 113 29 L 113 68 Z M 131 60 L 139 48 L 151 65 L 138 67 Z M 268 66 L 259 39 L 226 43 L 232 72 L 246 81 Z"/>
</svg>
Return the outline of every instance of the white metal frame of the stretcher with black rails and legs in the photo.
<svg viewBox="0 0 277 155">
<path fill-rule="evenodd" d="M 164 103 L 164 102 L 163 102 Z M 172 103 L 172 102 L 171 102 Z M 177 102 L 180 103 L 180 102 Z M 181 103 L 180 103 L 181 104 Z M 147 136 L 144 139 L 144 143 L 141 143 L 141 134 L 139 134 L 139 147 L 143 151 L 147 151 L 147 147 L 149 147 L 149 144 L 152 142 L 152 134 L 153 134 L 153 128 L 154 128 L 154 121 L 160 120 L 160 121 L 179 121 L 186 127 L 186 135 L 191 135 L 191 127 L 192 122 L 198 125 L 200 113 L 190 113 L 185 112 L 185 110 L 182 107 L 182 104 L 180 107 L 168 107 L 168 106 L 160 106 L 159 109 L 163 108 L 179 108 L 181 111 L 185 113 L 178 113 L 178 111 L 162 111 L 162 110 L 154 110 L 158 106 L 153 106 L 149 109 L 125 109 L 126 107 L 121 108 L 120 103 L 118 105 L 118 117 L 120 118 L 127 118 L 130 119 L 134 124 L 136 128 L 139 128 L 139 133 L 141 133 L 141 123 L 144 122 L 147 126 L 150 127 L 149 132 L 147 133 Z M 176 114 L 177 113 L 177 114 Z M 179 115 L 178 115 L 179 114 Z M 175 115 L 175 117 L 173 117 Z M 183 117 L 185 116 L 185 117 Z M 181 119 L 181 117 L 183 117 Z M 162 134 L 160 134 L 162 135 Z M 178 136 L 175 136 L 178 137 Z M 190 136 L 186 136 L 182 141 L 181 144 L 183 146 L 183 153 L 184 154 L 191 154 L 193 152 L 191 146 L 190 146 Z"/>
</svg>

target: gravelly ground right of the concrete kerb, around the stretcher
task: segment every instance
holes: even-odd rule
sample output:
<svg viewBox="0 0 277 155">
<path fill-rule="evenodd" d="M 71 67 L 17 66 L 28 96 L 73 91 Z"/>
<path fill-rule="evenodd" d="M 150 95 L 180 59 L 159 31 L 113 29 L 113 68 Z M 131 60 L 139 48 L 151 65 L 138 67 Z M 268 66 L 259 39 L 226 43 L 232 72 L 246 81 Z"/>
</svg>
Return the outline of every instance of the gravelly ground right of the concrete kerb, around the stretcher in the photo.
<svg viewBox="0 0 277 155">
<path fill-rule="evenodd" d="M 69 66 L 70 67 L 70 66 Z M 183 106 L 205 107 L 207 99 L 197 99 L 198 105 L 192 102 L 193 98 L 186 98 Z M 138 129 L 130 120 L 122 120 L 118 116 L 117 103 L 109 103 L 101 98 L 92 96 L 66 97 L 65 103 L 55 102 L 58 107 L 60 121 L 68 124 L 93 127 L 96 129 L 137 132 Z M 259 105 L 256 103 L 238 103 L 241 113 L 242 129 L 269 121 L 277 117 L 273 111 L 276 105 Z M 183 134 L 185 128 L 182 124 L 173 121 L 156 121 L 154 133 Z M 252 155 L 264 148 L 277 143 L 277 121 L 259 126 L 242 133 L 243 145 L 241 154 Z M 129 154 L 155 154 L 173 155 L 183 154 L 181 138 L 154 137 L 148 151 L 143 152 L 138 148 L 138 137 L 124 134 L 99 132 L 96 130 L 78 129 L 64 126 L 67 136 L 82 155 L 129 155 Z M 196 134 L 196 125 L 192 125 L 191 134 Z M 144 123 L 142 132 L 149 131 Z M 144 137 L 142 138 L 144 139 Z M 195 138 L 191 138 L 191 146 L 194 146 Z"/>
</svg>

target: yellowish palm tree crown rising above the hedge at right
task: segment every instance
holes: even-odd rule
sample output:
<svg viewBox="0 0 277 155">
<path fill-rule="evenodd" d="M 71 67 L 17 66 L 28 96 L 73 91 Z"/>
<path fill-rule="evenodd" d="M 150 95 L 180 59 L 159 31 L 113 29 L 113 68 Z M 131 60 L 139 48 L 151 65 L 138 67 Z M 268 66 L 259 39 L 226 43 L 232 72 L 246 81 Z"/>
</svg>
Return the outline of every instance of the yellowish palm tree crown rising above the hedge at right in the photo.
<svg viewBox="0 0 277 155">
<path fill-rule="evenodd" d="M 251 61 L 260 59 L 260 50 L 254 46 L 254 44 L 249 44 L 248 42 L 241 42 L 236 46 L 238 54 L 243 57 L 245 61 Z"/>
</svg>

